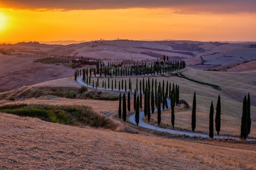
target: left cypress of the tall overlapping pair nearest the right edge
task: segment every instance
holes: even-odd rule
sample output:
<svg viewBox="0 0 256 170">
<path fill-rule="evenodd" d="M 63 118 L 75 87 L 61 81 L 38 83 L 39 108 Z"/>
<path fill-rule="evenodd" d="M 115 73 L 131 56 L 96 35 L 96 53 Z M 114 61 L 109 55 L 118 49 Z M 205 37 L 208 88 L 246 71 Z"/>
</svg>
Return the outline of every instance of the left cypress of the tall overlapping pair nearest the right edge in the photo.
<svg viewBox="0 0 256 170">
<path fill-rule="evenodd" d="M 241 133 L 240 138 L 246 140 L 247 138 L 247 100 L 246 96 L 243 101 L 243 113 L 241 118 Z"/>
</svg>

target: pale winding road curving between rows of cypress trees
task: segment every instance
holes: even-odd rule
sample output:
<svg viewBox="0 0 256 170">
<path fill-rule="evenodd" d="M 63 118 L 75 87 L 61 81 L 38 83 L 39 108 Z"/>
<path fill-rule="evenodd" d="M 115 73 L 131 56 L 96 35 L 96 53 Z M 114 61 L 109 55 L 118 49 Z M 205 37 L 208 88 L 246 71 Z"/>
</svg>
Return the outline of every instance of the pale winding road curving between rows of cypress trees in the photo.
<svg viewBox="0 0 256 170">
<path fill-rule="evenodd" d="M 96 77 L 98 77 L 99 75 L 96 75 Z M 91 85 L 88 85 L 86 84 L 85 82 L 83 82 L 83 77 L 77 77 L 76 81 L 81 84 L 81 85 L 84 85 L 84 86 L 88 86 L 90 88 L 92 88 Z M 100 90 L 106 90 L 106 91 L 118 91 L 119 90 L 115 90 L 115 89 L 108 89 L 108 88 L 99 88 L 97 87 L 97 89 L 100 89 Z M 121 92 L 125 92 L 124 90 L 120 90 Z M 138 93 L 139 91 L 137 91 Z M 171 108 L 170 104 L 170 99 L 167 99 L 167 103 L 168 103 L 168 106 L 169 108 Z M 161 108 L 162 110 L 162 108 Z M 157 112 L 157 109 L 155 109 L 155 112 Z M 147 129 L 150 129 L 150 130 L 157 130 L 157 131 L 161 131 L 161 132 L 168 132 L 168 133 L 171 133 L 171 134 L 179 134 L 179 135 L 186 135 L 186 136 L 189 136 L 189 137 L 202 137 L 202 138 L 209 138 L 209 135 L 208 134 L 202 134 L 202 133 L 196 133 L 196 132 L 184 132 L 184 131 L 180 131 L 180 130 L 173 130 L 173 129 L 166 129 L 166 128 L 160 128 L 160 127 L 157 127 L 157 126 L 153 126 L 153 125 L 150 125 L 150 124 L 147 124 L 146 122 L 144 122 L 143 120 L 144 118 L 144 112 L 140 112 L 139 113 L 139 124 L 138 126 L 142 127 L 142 128 L 147 128 Z M 136 122 L 135 122 L 135 114 L 131 115 L 129 117 L 129 121 L 132 123 L 132 124 L 135 124 L 136 125 Z M 227 137 L 227 136 L 221 136 L 221 135 L 214 135 L 213 138 L 216 138 L 216 139 L 233 139 L 233 140 L 239 140 L 240 138 L 238 137 Z M 247 139 L 248 141 L 255 141 L 255 139 Z"/>
</svg>

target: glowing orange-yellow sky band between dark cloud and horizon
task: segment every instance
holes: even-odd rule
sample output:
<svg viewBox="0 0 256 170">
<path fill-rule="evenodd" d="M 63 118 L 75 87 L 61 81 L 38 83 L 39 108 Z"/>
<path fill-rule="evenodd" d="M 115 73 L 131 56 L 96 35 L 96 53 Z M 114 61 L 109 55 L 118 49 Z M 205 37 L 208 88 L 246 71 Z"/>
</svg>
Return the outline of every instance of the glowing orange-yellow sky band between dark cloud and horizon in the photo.
<svg viewBox="0 0 256 170">
<path fill-rule="evenodd" d="M 0 6 L 1 7 L 1 6 Z M 41 11 L 40 11 L 41 10 Z M 255 41 L 256 13 L 179 13 L 167 8 L 0 8 L 0 42 L 53 40 Z"/>
</svg>

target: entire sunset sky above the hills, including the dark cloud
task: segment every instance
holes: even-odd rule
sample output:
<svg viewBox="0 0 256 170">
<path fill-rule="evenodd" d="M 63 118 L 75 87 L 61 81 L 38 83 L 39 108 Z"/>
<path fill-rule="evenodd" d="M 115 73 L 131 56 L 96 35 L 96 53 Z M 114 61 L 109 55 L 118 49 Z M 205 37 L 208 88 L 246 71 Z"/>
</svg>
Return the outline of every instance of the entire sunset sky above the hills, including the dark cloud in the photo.
<svg viewBox="0 0 256 170">
<path fill-rule="evenodd" d="M 0 0 L 0 42 L 256 41 L 255 0 Z"/>
</svg>

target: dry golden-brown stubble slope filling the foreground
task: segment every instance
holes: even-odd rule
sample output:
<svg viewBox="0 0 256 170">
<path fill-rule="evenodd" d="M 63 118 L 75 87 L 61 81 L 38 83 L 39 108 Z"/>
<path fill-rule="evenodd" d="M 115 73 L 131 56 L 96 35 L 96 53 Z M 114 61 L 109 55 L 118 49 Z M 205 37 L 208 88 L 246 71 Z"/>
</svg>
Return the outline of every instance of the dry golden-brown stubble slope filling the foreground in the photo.
<svg viewBox="0 0 256 170">
<path fill-rule="evenodd" d="M 1 169 L 256 170 L 256 147 L 198 144 L 0 114 Z"/>
</svg>

